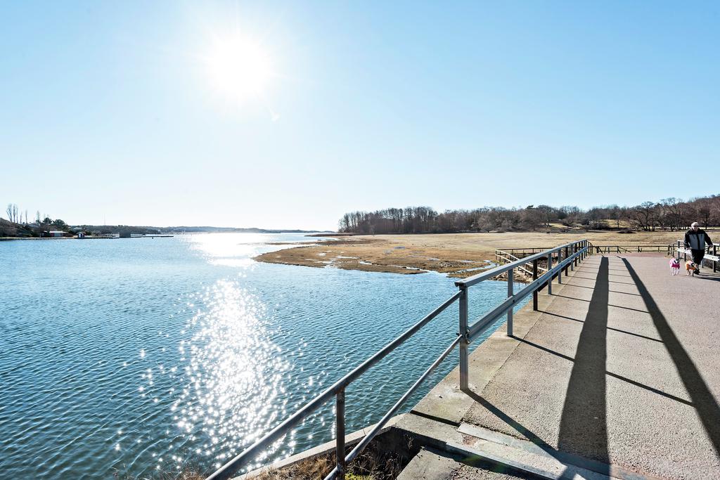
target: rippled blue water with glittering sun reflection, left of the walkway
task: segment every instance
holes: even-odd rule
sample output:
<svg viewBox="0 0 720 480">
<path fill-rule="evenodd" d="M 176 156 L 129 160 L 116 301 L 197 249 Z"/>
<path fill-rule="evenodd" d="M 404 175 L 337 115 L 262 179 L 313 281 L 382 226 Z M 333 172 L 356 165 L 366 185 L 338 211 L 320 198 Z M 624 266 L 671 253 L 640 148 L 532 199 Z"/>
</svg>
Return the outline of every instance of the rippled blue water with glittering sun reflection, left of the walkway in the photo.
<svg viewBox="0 0 720 480">
<path fill-rule="evenodd" d="M 257 263 L 302 235 L 0 242 L 0 471 L 212 471 L 455 293 L 438 273 Z M 320 258 L 323 260 L 323 258 Z M 471 289 L 470 318 L 506 296 Z M 377 422 L 456 335 L 457 305 L 351 384 Z M 451 354 L 407 411 L 456 365 Z M 333 438 L 329 402 L 257 462 Z"/>
</svg>

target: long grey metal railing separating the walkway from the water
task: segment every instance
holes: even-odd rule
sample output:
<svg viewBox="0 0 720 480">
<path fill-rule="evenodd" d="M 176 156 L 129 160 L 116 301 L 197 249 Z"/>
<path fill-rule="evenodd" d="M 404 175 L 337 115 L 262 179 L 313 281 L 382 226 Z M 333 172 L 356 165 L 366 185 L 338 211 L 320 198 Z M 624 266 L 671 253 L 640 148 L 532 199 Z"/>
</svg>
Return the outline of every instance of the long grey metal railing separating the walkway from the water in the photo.
<svg viewBox="0 0 720 480">
<path fill-rule="evenodd" d="M 387 424 L 387 421 L 395 415 L 397 410 L 402 407 L 408 398 L 420 387 L 420 384 L 425 381 L 428 376 L 437 368 L 440 363 L 451 353 L 452 350 L 459 345 L 460 355 L 460 387 L 467 391 L 468 389 L 468 354 L 469 345 L 477 340 L 482 332 L 485 332 L 487 328 L 493 325 L 503 314 L 508 315 L 508 335 L 513 335 L 513 307 L 521 302 L 529 294 L 534 294 L 534 309 L 537 309 L 537 292 L 543 286 L 547 286 L 548 291 L 552 288 L 552 279 L 557 277 L 558 281 L 562 281 L 562 272 L 564 270 L 567 275 L 568 269 L 573 269 L 577 264 L 582 261 L 590 253 L 590 243 L 588 240 L 580 240 L 577 242 L 567 243 L 556 248 L 544 250 L 541 253 L 536 253 L 526 258 L 521 258 L 518 261 L 498 266 L 490 271 L 479 273 L 475 276 L 471 276 L 467 279 L 456 281 L 455 285 L 458 286 L 459 291 L 452 295 L 449 299 L 439 305 L 432 312 L 423 317 L 422 320 L 417 322 L 413 327 L 410 327 L 402 335 L 392 340 L 392 342 L 385 345 L 381 350 L 375 353 L 373 356 L 368 358 L 366 361 L 356 366 L 350 373 L 347 373 L 343 378 L 336 381 L 335 384 L 325 389 L 323 393 L 312 399 L 309 403 L 305 404 L 304 407 L 300 408 L 293 415 L 284 420 L 269 433 L 264 435 L 263 438 L 253 443 L 250 447 L 246 448 L 242 453 L 235 458 L 225 463 L 222 467 L 217 469 L 215 473 L 207 477 L 207 480 L 226 480 L 230 479 L 231 476 L 248 463 L 258 456 L 262 450 L 268 448 L 270 445 L 275 443 L 277 440 L 282 438 L 284 435 L 289 433 L 294 427 L 296 427 L 302 420 L 312 415 L 318 408 L 323 406 L 330 399 L 335 397 L 336 400 L 336 466 L 330 474 L 325 477 L 325 480 L 344 478 L 346 471 L 346 464 L 356 458 L 359 453 L 373 440 L 373 438 L 382 430 L 382 427 Z M 553 257 L 557 257 L 557 265 L 552 266 Z M 541 276 L 538 276 L 538 262 L 539 260 L 547 259 L 548 270 Z M 513 268 L 521 268 L 526 263 L 533 265 L 533 281 L 526 285 L 521 291 L 515 293 L 513 291 Z M 467 295 L 468 289 L 471 286 L 480 284 L 480 282 L 493 279 L 503 273 L 508 273 L 508 299 L 502 304 L 485 314 L 480 320 L 475 322 L 472 326 L 468 325 L 468 305 Z M 429 366 L 426 371 L 418 378 L 417 381 L 410 386 L 410 389 L 395 402 L 395 404 L 387 411 L 382 419 L 377 422 L 372 431 L 368 433 L 352 450 L 346 455 L 345 451 L 345 389 L 353 381 L 359 378 L 365 371 L 378 363 L 382 358 L 387 356 L 392 350 L 399 347 L 408 340 L 410 337 L 415 335 L 421 328 L 428 324 L 431 320 L 437 317 L 441 312 L 454 304 L 459 302 L 459 333 L 456 338 L 450 343 L 450 345 L 441 353 L 438 358 Z"/>
</svg>

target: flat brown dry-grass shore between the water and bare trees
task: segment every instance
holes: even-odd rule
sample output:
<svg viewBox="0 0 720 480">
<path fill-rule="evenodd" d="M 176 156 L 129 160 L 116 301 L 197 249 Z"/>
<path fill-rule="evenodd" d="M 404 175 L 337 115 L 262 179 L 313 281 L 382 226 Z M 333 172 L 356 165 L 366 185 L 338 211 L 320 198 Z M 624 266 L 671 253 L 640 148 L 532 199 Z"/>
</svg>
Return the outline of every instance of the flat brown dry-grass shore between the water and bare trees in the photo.
<svg viewBox="0 0 720 480">
<path fill-rule="evenodd" d="M 472 276 L 495 261 L 495 249 L 552 248 L 588 239 L 594 245 L 668 245 L 684 232 L 505 232 L 437 233 L 420 235 L 356 235 L 333 237 L 258 255 L 255 260 L 315 268 L 332 266 L 346 270 L 390 273 L 437 271 L 455 278 Z M 720 232 L 708 230 L 714 241 Z M 328 235 L 331 236 L 331 235 Z"/>
</svg>

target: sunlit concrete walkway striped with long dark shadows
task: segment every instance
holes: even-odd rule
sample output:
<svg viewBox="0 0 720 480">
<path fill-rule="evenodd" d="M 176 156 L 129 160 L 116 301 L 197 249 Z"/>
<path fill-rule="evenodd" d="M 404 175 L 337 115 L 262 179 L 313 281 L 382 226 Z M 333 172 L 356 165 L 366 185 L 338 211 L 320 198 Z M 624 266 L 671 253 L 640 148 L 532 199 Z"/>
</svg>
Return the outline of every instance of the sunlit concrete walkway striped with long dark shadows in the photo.
<svg viewBox="0 0 720 480">
<path fill-rule="evenodd" d="M 590 256 L 474 351 L 471 391 L 456 369 L 397 427 L 546 478 L 720 478 L 720 274 L 703 272 Z"/>
</svg>

